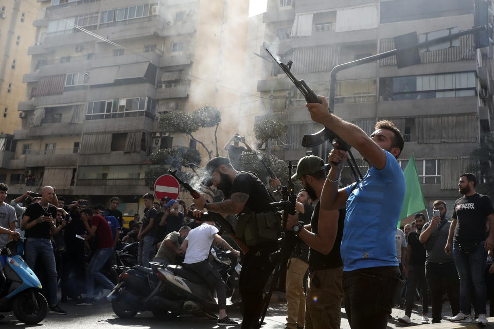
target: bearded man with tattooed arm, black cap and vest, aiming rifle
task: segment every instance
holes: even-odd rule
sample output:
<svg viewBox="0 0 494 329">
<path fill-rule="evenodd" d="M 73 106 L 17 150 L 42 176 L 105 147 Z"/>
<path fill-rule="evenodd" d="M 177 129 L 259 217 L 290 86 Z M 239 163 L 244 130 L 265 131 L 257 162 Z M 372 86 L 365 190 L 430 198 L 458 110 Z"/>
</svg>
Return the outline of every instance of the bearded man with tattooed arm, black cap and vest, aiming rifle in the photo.
<svg viewBox="0 0 494 329">
<path fill-rule="evenodd" d="M 223 215 L 239 214 L 235 230 L 237 234 L 243 234 L 241 239 L 249 246 L 249 252 L 242 257 L 242 271 L 239 279 L 243 306 L 242 328 L 258 328 L 262 312 L 263 289 L 276 265 L 270 262 L 269 254 L 278 249 L 277 232 L 275 229 L 264 230 L 264 236 L 246 241 L 246 233 L 239 232 L 239 223 L 243 222 L 245 216 L 252 215 L 256 217 L 256 221 L 269 218 L 272 221 L 271 224 L 279 224 L 279 220 L 276 220 L 271 212 L 269 204 L 272 200 L 271 195 L 254 173 L 237 172 L 227 158 L 216 157 L 209 160 L 206 173 L 210 183 L 223 192 L 225 199 L 221 202 L 206 204 L 206 199 L 202 195 L 194 199 L 194 203 L 197 209 L 206 207 L 208 211 Z M 202 211 L 195 210 L 194 215 L 201 217 Z"/>
</svg>

